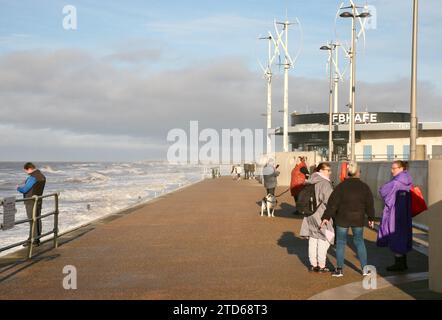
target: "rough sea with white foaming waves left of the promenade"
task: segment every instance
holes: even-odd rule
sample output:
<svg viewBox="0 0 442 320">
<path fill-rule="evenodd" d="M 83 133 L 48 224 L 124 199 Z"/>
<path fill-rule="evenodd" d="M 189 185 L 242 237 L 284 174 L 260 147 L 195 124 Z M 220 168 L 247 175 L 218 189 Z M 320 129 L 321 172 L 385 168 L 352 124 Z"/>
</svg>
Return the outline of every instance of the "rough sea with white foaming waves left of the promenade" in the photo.
<svg viewBox="0 0 442 320">
<path fill-rule="evenodd" d="M 45 194 L 60 193 L 60 233 L 208 177 L 206 168 L 200 165 L 175 165 L 167 161 L 41 162 L 36 165 L 46 176 Z M 16 186 L 26 178 L 23 162 L 0 162 L 0 198 L 22 198 Z M 53 198 L 45 200 L 43 214 L 53 208 Z M 0 213 L 2 210 L 0 207 Z M 26 212 L 23 202 L 18 202 L 16 221 L 21 219 L 26 219 Z M 0 222 L 3 222 L 2 214 Z M 43 233 L 52 228 L 53 218 L 43 219 Z M 27 223 L 0 230 L 0 248 L 24 241 L 28 236 Z"/>
</svg>

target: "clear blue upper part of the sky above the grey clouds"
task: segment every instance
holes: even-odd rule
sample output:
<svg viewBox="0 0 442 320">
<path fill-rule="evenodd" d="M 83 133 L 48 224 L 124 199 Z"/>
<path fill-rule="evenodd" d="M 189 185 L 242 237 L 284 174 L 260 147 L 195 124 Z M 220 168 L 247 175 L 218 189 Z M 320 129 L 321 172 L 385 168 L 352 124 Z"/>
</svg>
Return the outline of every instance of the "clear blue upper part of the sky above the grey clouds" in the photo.
<svg viewBox="0 0 442 320">
<path fill-rule="evenodd" d="M 364 4 L 366 1 L 362 1 Z M 304 31 L 303 52 L 296 66 L 301 76 L 325 76 L 324 55 L 317 48 L 334 37 L 340 1 L 0 1 L 0 52 L 36 48 L 82 48 L 107 54 L 126 45 L 160 48 L 169 57 L 164 67 L 209 63 L 239 56 L 257 68 L 265 53 L 260 34 L 273 30 L 273 19 L 298 17 Z M 374 0 L 377 29 L 367 31 L 358 78 L 377 82 L 409 76 L 412 1 Z M 65 31 L 62 8 L 76 6 L 78 30 Z M 435 41 L 442 30 L 440 1 L 421 1 L 420 77 L 442 87 Z M 338 21 L 339 37 L 349 40 L 350 22 Z M 293 27 L 293 53 L 299 45 Z M 360 47 L 362 49 L 362 47 Z M 362 51 L 364 51 L 362 53 Z M 264 56 L 261 57 L 264 59 Z"/>
</svg>

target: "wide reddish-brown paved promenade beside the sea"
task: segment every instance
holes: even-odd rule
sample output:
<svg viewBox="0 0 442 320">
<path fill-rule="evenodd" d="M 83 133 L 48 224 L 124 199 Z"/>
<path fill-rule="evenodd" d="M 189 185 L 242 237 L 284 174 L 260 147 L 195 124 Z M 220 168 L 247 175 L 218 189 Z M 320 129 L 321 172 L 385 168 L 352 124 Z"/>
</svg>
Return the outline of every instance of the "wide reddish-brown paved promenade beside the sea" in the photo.
<svg viewBox="0 0 442 320">
<path fill-rule="evenodd" d="M 43 246 L 32 261 L 3 258 L 0 299 L 307 299 L 362 281 L 352 248 L 345 277 L 307 272 L 292 198 L 279 198 L 270 219 L 259 216 L 263 195 L 256 181 L 205 180 L 83 228 L 58 249 Z M 369 263 L 390 275 L 390 252 L 365 234 Z M 334 249 L 329 258 L 334 264 Z M 77 290 L 62 287 L 66 265 L 77 268 Z M 414 251 L 409 267 L 428 271 L 428 258 Z"/>
</svg>

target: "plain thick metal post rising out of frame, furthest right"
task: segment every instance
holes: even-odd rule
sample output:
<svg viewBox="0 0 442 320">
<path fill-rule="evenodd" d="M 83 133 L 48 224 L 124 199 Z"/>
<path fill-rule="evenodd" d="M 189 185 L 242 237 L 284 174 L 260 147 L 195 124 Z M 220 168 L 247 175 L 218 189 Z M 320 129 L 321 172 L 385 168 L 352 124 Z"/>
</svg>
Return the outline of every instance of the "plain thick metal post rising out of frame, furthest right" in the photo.
<svg viewBox="0 0 442 320">
<path fill-rule="evenodd" d="M 413 39 L 412 39 L 412 62 L 411 62 L 411 102 L 410 102 L 410 160 L 416 160 L 417 140 L 417 35 L 419 1 L 413 0 Z"/>
</svg>

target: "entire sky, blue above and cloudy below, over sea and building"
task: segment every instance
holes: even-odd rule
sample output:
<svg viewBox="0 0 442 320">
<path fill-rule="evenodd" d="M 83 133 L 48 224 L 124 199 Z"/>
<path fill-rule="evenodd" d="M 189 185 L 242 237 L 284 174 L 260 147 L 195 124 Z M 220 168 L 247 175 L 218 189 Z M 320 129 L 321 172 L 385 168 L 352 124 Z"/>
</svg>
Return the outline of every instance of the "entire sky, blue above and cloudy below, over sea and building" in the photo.
<svg viewBox="0 0 442 320">
<path fill-rule="evenodd" d="M 411 0 L 360 0 L 375 9 L 358 41 L 361 111 L 408 111 Z M 259 67 L 276 20 L 289 29 L 289 109 L 328 108 L 327 55 L 350 41 L 341 1 L 0 0 L 0 161 L 164 159 L 174 128 L 263 128 Z M 76 8 L 66 30 L 63 8 Z M 442 2 L 420 1 L 418 117 L 442 121 Z M 341 52 L 341 71 L 348 61 Z M 282 124 L 282 70 L 274 66 L 274 126 Z M 348 84 L 340 84 L 345 111 Z"/>
</svg>

